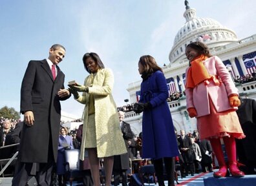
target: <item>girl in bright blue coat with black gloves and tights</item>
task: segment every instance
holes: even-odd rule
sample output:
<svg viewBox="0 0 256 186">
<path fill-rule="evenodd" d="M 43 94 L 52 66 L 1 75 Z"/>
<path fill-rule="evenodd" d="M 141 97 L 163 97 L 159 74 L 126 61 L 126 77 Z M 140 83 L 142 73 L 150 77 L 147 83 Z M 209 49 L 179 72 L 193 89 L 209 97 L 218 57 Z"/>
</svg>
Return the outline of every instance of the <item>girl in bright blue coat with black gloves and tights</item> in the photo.
<svg viewBox="0 0 256 186">
<path fill-rule="evenodd" d="M 164 159 L 168 185 L 175 185 L 173 157 L 178 156 L 178 146 L 167 104 L 167 82 L 162 68 L 158 67 L 152 56 L 140 57 L 138 71 L 143 81 L 140 101 L 134 104 L 134 111 L 143 111 L 142 158 L 153 159 L 159 185 L 164 185 Z"/>
</svg>

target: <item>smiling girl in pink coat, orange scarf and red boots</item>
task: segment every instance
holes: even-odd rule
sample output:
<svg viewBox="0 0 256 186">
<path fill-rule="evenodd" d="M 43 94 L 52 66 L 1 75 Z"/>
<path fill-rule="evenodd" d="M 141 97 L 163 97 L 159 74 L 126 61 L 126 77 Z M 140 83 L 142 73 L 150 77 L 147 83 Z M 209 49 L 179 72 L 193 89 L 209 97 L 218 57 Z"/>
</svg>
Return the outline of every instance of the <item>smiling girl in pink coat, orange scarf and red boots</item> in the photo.
<svg viewBox="0 0 256 186">
<path fill-rule="evenodd" d="M 215 178 L 228 175 L 244 176 L 237 167 L 235 138 L 245 138 L 235 110 L 240 105 L 238 90 L 219 57 L 211 56 L 204 43 L 194 42 L 186 47 L 189 67 L 186 70 L 187 111 L 197 118 L 201 139 L 209 139 L 219 162 Z M 228 165 L 220 143 L 223 139 Z"/>
</svg>

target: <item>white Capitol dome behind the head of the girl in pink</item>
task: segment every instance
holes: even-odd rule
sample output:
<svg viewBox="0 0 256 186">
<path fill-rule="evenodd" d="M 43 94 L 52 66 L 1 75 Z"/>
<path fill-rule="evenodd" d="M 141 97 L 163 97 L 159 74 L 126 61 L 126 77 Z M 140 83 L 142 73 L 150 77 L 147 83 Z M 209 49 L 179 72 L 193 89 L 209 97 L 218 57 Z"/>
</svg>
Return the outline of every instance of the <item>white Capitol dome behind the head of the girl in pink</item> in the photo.
<svg viewBox="0 0 256 186">
<path fill-rule="evenodd" d="M 171 63 L 185 59 L 186 46 L 193 41 L 206 43 L 210 50 L 237 41 L 235 32 L 214 19 L 197 17 L 195 8 L 190 8 L 188 1 L 185 1 L 185 5 L 186 11 L 183 16 L 186 18 L 186 23 L 175 36 L 173 48 L 169 53 Z"/>
</svg>

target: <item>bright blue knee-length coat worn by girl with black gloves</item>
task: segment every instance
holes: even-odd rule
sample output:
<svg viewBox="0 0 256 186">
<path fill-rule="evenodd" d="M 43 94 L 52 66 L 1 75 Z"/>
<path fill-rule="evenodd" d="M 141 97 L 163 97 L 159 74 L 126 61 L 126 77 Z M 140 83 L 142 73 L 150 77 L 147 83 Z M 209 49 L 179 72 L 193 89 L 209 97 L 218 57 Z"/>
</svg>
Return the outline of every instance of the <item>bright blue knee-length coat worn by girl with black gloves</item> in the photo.
<svg viewBox="0 0 256 186">
<path fill-rule="evenodd" d="M 168 88 L 164 74 L 158 70 L 142 81 L 140 103 L 151 103 L 142 118 L 142 158 L 178 156 L 178 146 L 171 112 L 167 104 Z"/>
</svg>

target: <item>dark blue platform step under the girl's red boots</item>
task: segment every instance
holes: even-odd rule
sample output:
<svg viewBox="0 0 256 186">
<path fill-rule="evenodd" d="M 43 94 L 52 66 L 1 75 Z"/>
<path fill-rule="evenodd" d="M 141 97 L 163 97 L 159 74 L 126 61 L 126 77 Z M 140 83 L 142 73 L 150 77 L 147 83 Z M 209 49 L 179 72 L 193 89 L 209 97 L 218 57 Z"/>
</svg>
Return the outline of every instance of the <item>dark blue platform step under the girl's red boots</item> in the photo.
<svg viewBox="0 0 256 186">
<path fill-rule="evenodd" d="M 204 186 L 255 186 L 256 175 L 246 175 L 240 178 L 226 177 L 226 178 L 204 178 Z"/>
</svg>

